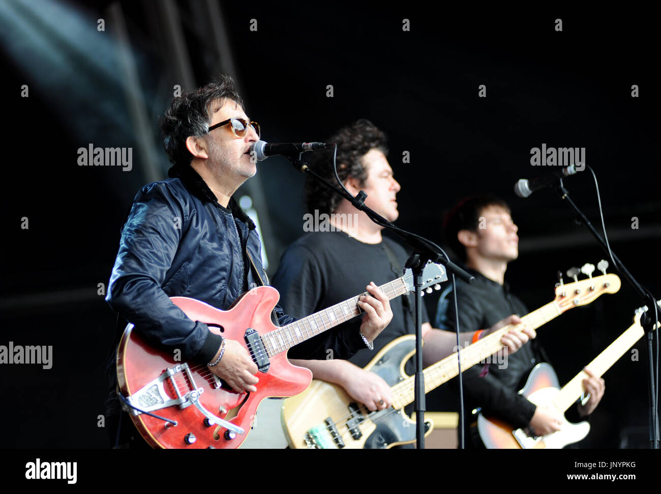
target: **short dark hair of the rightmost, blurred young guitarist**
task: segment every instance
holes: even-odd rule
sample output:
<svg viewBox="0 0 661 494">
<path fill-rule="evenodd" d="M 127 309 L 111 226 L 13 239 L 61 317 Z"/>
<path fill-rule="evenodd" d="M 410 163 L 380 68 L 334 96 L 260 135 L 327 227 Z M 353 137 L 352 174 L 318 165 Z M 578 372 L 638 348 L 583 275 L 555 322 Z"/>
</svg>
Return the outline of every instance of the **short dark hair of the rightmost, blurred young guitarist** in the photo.
<svg viewBox="0 0 661 494">
<path fill-rule="evenodd" d="M 457 233 L 459 233 L 459 230 L 477 232 L 480 217 L 483 211 L 490 206 L 502 207 L 510 213 L 510 206 L 500 197 L 493 194 L 482 194 L 461 199 L 446 215 L 443 230 L 447 245 L 463 262 L 466 262 L 466 248 L 459 242 Z"/>
</svg>

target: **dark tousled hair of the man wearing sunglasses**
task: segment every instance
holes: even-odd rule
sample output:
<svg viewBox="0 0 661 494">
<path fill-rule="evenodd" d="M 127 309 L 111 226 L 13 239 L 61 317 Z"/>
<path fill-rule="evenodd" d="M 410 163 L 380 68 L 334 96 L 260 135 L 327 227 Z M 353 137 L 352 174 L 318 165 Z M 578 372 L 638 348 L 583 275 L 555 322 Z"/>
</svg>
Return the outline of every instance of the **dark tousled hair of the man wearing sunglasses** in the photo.
<svg viewBox="0 0 661 494">
<path fill-rule="evenodd" d="M 221 105 L 230 99 L 243 108 L 234 80 L 221 74 L 208 85 L 173 98 L 170 108 L 159 119 L 163 147 L 175 166 L 185 166 L 192 161 L 193 155 L 186 149 L 186 139 L 208 133 L 213 118 L 211 104 L 217 99 Z"/>
</svg>

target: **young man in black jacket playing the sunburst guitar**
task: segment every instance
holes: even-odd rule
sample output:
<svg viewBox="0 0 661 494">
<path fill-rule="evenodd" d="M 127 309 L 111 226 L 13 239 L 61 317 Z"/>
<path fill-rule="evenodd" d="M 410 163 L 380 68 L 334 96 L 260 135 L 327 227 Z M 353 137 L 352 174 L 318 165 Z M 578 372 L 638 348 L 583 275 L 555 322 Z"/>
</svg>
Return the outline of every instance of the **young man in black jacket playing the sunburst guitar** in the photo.
<svg viewBox="0 0 661 494">
<path fill-rule="evenodd" d="M 460 201 L 447 215 L 444 226 L 446 240 L 463 260 L 467 271 L 475 276 L 468 285 L 457 280 L 459 328 L 472 334 L 489 326 L 506 314 L 524 316 L 528 310 L 504 280 L 509 262 L 519 256 L 518 227 L 510 216 L 510 207 L 494 195 L 477 195 Z M 455 311 L 451 302 L 451 286 L 442 293 L 436 313 L 438 328 L 455 330 Z M 518 394 L 525 378 L 542 360 L 541 348 L 536 342 L 524 345 L 515 355 L 508 355 L 507 366 L 489 365 L 488 369 L 475 366 L 463 372 L 465 411 L 482 408 L 483 413 L 495 415 L 515 428 L 530 425 L 538 435 L 558 431 L 561 417 L 557 412 L 535 406 Z M 577 422 L 590 415 L 603 396 L 604 382 L 586 369 L 589 379 L 584 380 L 590 398 L 585 405 L 569 409 L 566 417 Z M 480 447 L 475 417 L 467 415 L 465 421 L 466 447 Z"/>
</svg>

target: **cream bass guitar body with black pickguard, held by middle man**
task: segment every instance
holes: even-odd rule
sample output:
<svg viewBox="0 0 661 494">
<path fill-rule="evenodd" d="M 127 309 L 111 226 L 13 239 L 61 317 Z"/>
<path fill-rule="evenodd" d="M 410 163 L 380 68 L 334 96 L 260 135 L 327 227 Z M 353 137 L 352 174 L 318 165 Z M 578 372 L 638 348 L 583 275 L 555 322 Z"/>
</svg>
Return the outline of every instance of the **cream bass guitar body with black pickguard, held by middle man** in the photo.
<svg viewBox="0 0 661 494">
<path fill-rule="evenodd" d="M 393 386 L 408 377 L 404 365 L 414 352 L 415 336 L 401 336 L 383 347 L 365 370 Z M 320 380 L 285 400 L 282 425 L 292 448 L 385 449 L 416 440 L 415 421 L 403 409 L 369 411 L 340 386 Z M 425 421 L 425 426 L 428 435 L 433 424 Z"/>
</svg>

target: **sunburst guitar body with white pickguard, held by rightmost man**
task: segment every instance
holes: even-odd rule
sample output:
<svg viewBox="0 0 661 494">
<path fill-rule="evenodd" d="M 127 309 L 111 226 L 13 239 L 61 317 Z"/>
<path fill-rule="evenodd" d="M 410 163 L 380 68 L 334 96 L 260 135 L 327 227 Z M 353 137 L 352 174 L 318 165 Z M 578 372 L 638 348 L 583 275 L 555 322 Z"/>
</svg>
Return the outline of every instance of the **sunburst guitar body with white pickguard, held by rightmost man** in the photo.
<svg viewBox="0 0 661 494">
<path fill-rule="evenodd" d="M 547 406 L 560 392 L 559 388 L 558 377 L 553 367 L 541 363 L 531 370 L 520 394 L 535 405 Z M 485 417 L 482 413 L 477 417 L 477 429 L 488 449 L 560 449 L 567 444 L 580 441 L 590 432 L 588 422 L 572 424 L 564 418 L 564 413 L 561 415 L 563 419 L 561 430 L 544 437 L 531 437 L 525 429 L 515 430 L 508 423 L 495 417 Z"/>
</svg>

